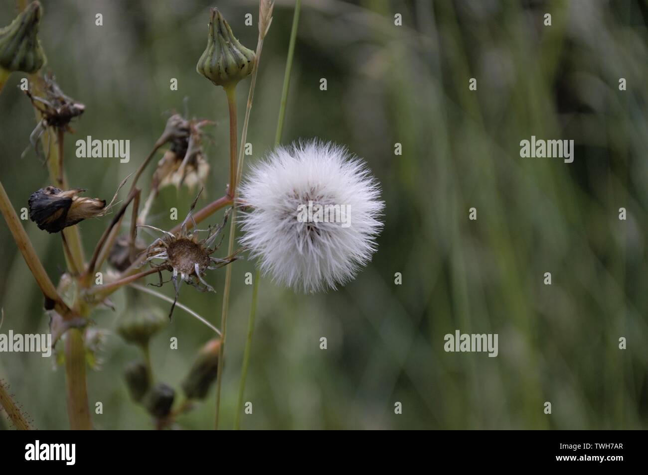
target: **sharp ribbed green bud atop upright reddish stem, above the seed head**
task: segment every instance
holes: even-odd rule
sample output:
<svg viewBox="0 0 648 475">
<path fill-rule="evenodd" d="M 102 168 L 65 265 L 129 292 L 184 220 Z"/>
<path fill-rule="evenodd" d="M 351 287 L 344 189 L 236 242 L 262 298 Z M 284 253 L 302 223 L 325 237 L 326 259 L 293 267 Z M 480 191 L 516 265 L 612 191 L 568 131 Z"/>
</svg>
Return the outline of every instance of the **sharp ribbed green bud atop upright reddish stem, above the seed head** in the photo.
<svg viewBox="0 0 648 475">
<path fill-rule="evenodd" d="M 232 87 L 249 76 L 255 60 L 255 52 L 238 42 L 218 8 L 212 8 L 207 48 L 198 60 L 196 71 L 217 86 Z"/>
</svg>

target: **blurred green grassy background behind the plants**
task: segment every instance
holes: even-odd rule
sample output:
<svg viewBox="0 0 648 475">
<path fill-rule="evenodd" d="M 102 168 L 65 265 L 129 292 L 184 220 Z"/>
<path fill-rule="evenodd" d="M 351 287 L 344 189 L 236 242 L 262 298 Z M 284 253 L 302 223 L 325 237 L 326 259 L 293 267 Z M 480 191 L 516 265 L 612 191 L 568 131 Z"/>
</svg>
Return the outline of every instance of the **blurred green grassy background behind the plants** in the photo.
<svg viewBox="0 0 648 475">
<path fill-rule="evenodd" d="M 196 73 L 196 61 L 210 6 L 253 49 L 258 4 L 42 3 L 47 67 L 87 107 L 67 138 L 70 185 L 110 199 L 146 157 L 169 111 L 183 112 L 186 97 L 190 116 L 217 122 L 206 143 L 211 171 L 199 206 L 220 196 L 226 98 Z M 277 1 L 264 44 L 248 163 L 273 144 L 292 5 Z M 15 13 L 12 0 L 0 0 L 0 25 Z M 252 27 L 244 25 L 246 13 Z M 543 25 L 545 13 L 551 27 Z M 295 294 L 262 280 L 245 397 L 253 414 L 242 417 L 242 428 L 648 428 L 647 20 L 643 0 L 303 3 L 283 142 L 320 137 L 364 157 L 382 183 L 385 228 L 371 265 L 336 292 Z M 49 184 L 33 151 L 20 158 L 35 126 L 17 89 L 21 77 L 12 74 L 0 95 L 0 178 L 16 208 Z M 170 78 L 178 91 L 170 91 Z M 477 91 L 469 91 L 469 78 Z M 240 122 L 248 87 L 246 80 L 237 88 Z M 130 139 L 130 162 L 77 159 L 73 141 L 87 135 Z M 574 162 L 521 159 L 520 140 L 531 135 L 575 140 Z M 402 155 L 394 154 L 396 142 Z M 145 195 L 153 170 L 141 181 Z M 183 217 L 194 196 L 165 188 L 152 224 L 172 227 L 167 210 L 177 206 Z M 471 207 L 476 221 L 468 219 Z M 626 221 L 618 219 L 621 207 Z M 86 254 L 109 220 L 79 225 Z M 23 224 L 58 279 L 65 269 L 60 238 Z M 4 221 L 0 239 L 1 331 L 44 333 L 40 291 Z M 221 250 L 224 256 L 226 245 Z M 234 419 L 251 296 L 244 274 L 253 269 L 251 260 L 233 268 L 223 428 Z M 544 285 L 544 272 L 552 285 Z M 224 275 L 208 276 L 217 294 L 183 286 L 180 302 L 218 326 Z M 172 295 L 170 285 L 161 291 Z M 108 331 L 102 368 L 88 373 L 91 412 L 97 401 L 104 406 L 93 424 L 152 428 L 122 379 L 126 363 L 140 358 L 114 333 L 124 293 L 113 302 L 116 311 L 93 314 Z M 455 329 L 498 333 L 498 357 L 446 353 L 444 335 Z M 178 350 L 169 349 L 171 337 Z M 152 340 L 156 376 L 179 390 L 211 337 L 176 309 Z M 320 337 L 327 350 L 319 349 Z M 627 349 L 618 348 L 619 337 Z M 64 370 L 53 366 L 37 353 L 0 354 L 0 378 L 41 429 L 69 426 Z M 551 415 L 543 413 L 545 401 Z M 214 388 L 178 425 L 212 428 L 213 419 Z M 0 428 L 7 427 L 1 417 Z"/>
</svg>

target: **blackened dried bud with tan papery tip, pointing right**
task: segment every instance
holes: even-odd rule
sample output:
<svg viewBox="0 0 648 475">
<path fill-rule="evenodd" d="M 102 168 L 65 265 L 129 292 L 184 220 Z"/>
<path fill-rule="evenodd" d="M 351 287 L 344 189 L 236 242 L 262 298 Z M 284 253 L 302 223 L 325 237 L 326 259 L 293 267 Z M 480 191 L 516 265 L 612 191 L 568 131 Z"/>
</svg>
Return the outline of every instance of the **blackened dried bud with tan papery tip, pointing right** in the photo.
<svg viewBox="0 0 648 475">
<path fill-rule="evenodd" d="M 29 219 L 47 232 L 60 232 L 68 226 L 106 214 L 106 200 L 79 196 L 82 188 L 63 191 L 56 186 L 41 188 L 29 197 Z"/>
</svg>

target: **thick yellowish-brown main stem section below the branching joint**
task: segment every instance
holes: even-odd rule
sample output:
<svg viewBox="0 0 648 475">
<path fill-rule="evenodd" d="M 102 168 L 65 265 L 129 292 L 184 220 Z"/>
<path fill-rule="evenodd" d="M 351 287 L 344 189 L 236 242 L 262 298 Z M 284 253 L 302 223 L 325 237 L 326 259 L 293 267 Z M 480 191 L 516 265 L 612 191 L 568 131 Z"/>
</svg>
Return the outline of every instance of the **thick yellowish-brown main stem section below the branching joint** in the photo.
<svg viewBox="0 0 648 475">
<path fill-rule="evenodd" d="M 77 328 L 69 329 L 65 338 L 65 379 L 70 428 L 91 430 L 86 388 L 86 349 L 83 335 Z"/>
</svg>

